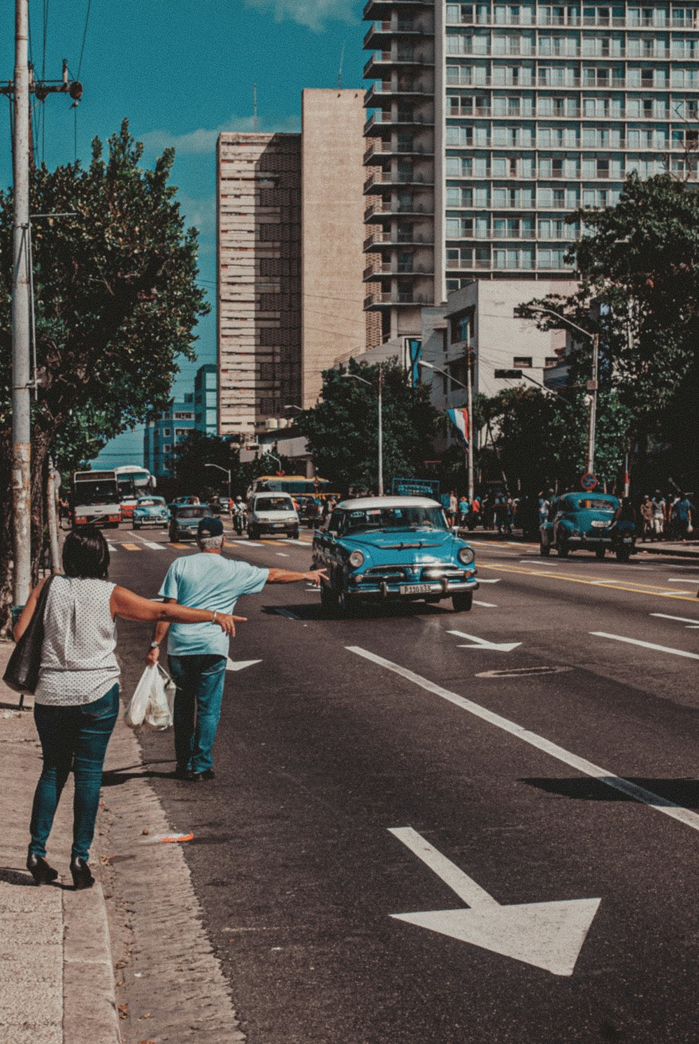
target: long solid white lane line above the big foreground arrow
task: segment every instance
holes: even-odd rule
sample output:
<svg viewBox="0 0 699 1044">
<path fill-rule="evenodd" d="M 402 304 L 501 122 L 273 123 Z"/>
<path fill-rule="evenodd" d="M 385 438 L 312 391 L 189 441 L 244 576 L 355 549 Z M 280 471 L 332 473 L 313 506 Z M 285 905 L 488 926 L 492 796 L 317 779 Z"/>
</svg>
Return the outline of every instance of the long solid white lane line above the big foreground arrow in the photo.
<svg viewBox="0 0 699 1044">
<path fill-rule="evenodd" d="M 426 692 L 432 692 L 434 695 L 446 699 L 447 703 L 453 704 L 456 707 L 461 707 L 462 710 L 468 711 L 474 717 L 481 718 L 483 721 L 488 721 L 489 725 L 494 725 L 497 729 L 502 729 L 503 732 L 514 736 L 515 739 L 521 739 L 522 742 L 529 743 L 530 746 L 535 746 L 538 751 L 542 751 L 544 754 L 551 755 L 552 758 L 556 758 L 557 761 L 562 761 L 563 764 L 569 765 L 570 768 L 575 768 L 585 776 L 590 776 L 599 783 L 604 783 L 605 786 L 610 786 L 613 790 L 621 790 L 622 793 L 633 798 L 634 801 L 638 801 L 643 805 L 649 805 L 656 809 L 656 811 L 662 812 L 665 815 L 669 815 L 679 823 L 683 823 L 684 826 L 691 827 L 693 830 L 699 830 L 699 815 L 696 812 L 691 812 L 689 808 L 675 805 L 672 801 L 668 801 L 667 798 L 661 798 L 659 794 L 653 793 L 652 790 L 647 790 L 645 787 L 638 786 L 636 783 L 632 783 L 622 776 L 615 776 L 606 768 L 600 768 L 599 765 L 587 761 L 586 758 L 580 758 L 577 754 L 572 754 L 564 748 L 558 746 L 557 743 L 552 743 L 545 737 L 522 728 L 516 721 L 510 721 L 509 718 L 502 717 L 499 714 L 495 714 L 493 711 L 474 704 L 472 699 L 466 699 L 456 692 L 443 689 L 441 685 L 436 685 L 435 682 L 429 682 L 426 678 L 421 678 L 420 674 L 409 670 L 407 667 L 391 663 L 390 660 L 385 660 L 374 652 L 369 652 L 368 649 L 363 649 L 359 645 L 346 645 L 345 648 L 349 652 L 364 657 L 365 660 L 370 660 L 371 663 L 378 664 L 379 667 L 385 667 L 387 670 L 392 670 L 395 674 L 400 674 L 401 678 L 406 679 L 406 681 L 419 686 Z"/>
</svg>

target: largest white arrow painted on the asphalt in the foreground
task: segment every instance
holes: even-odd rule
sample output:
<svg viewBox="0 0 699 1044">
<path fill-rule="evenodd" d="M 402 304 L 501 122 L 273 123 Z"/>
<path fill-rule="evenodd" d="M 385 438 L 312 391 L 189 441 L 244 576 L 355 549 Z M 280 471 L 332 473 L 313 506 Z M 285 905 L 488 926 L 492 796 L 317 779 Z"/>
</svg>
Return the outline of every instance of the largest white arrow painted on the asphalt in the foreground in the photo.
<svg viewBox="0 0 699 1044">
<path fill-rule="evenodd" d="M 573 975 L 601 899 L 500 906 L 412 827 L 394 828 L 389 833 L 470 906 L 470 909 L 391 914 L 392 918 L 543 968 L 554 975 Z"/>
</svg>

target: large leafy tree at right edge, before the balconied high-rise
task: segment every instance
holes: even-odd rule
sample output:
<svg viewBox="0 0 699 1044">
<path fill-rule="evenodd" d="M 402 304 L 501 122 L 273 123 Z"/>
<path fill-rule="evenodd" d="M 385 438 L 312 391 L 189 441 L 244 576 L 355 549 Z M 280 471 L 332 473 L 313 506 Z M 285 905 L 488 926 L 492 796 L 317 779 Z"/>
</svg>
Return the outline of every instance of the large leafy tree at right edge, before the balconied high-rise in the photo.
<svg viewBox="0 0 699 1044">
<path fill-rule="evenodd" d="M 619 204 L 581 210 L 585 235 L 568 260 L 581 274 L 577 293 L 521 306 L 542 329 L 564 328 L 537 307 L 564 314 L 600 335 L 600 385 L 618 392 L 634 416 L 640 455 L 653 444 L 685 474 L 699 455 L 699 193 L 668 174 L 627 180 Z M 581 338 L 582 340 L 582 338 Z M 570 354 L 570 384 L 589 377 L 589 343 Z M 598 425 L 599 429 L 599 425 Z M 642 471 L 642 474 L 644 472 Z"/>
</svg>

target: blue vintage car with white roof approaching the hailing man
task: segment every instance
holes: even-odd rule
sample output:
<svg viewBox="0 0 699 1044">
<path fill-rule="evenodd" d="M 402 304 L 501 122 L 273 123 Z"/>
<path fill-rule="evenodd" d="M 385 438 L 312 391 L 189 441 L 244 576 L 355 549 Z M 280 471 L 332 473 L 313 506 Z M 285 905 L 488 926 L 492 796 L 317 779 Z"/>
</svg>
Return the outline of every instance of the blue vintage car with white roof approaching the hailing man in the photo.
<svg viewBox="0 0 699 1044">
<path fill-rule="evenodd" d="M 363 497 L 341 501 L 313 535 L 313 564 L 325 569 L 321 603 L 351 615 L 359 602 L 438 602 L 467 612 L 477 591 L 472 547 L 452 532 L 436 500 Z"/>
</svg>

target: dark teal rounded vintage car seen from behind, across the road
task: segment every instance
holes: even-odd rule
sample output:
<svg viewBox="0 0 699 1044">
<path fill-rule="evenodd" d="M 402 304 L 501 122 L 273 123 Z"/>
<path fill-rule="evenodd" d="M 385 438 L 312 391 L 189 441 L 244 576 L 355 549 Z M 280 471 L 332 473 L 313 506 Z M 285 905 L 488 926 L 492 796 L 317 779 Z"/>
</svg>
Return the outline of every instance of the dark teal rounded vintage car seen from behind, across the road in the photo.
<svg viewBox="0 0 699 1044">
<path fill-rule="evenodd" d="M 595 551 L 598 559 L 612 547 L 611 525 L 620 506 L 609 493 L 564 493 L 551 501 L 549 518 L 541 525 L 539 551 L 543 557 L 552 548 L 560 559 L 570 551 Z"/>
</svg>

